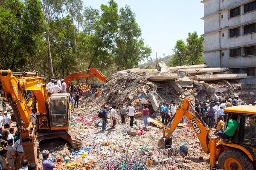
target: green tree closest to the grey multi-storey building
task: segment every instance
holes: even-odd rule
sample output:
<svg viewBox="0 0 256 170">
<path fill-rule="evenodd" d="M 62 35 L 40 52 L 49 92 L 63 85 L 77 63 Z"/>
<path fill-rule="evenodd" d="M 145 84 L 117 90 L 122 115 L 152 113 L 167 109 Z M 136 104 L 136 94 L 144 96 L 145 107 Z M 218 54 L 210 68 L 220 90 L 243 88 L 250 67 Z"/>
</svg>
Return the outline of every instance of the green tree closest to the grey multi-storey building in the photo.
<svg viewBox="0 0 256 170">
<path fill-rule="evenodd" d="M 189 54 L 189 64 L 204 64 L 202 57 L 204 51 L 204 37 L 198 37 L 197 32 L 189 33 L 186 39 L 187 52 Z"/>
</svg>

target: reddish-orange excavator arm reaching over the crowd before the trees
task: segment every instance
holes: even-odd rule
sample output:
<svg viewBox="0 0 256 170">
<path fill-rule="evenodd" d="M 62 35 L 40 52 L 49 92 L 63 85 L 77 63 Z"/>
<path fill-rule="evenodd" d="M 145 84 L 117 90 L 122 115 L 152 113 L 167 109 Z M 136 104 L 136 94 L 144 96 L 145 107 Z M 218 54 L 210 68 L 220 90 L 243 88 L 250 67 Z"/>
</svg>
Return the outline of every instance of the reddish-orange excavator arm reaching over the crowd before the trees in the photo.
<svg viewBox="0 0 256 170">
<path fill-rule="evenodd" d="M 90 71 L 91 74 L 81 74 L 81 73 L 84 73 L 87 71 Z M 67 76 L 64 79 L 64 81 L 67 84 L 67 88 L 68 88 L 70 85 L 70 82 L 73 79 L 83 79 L 83 78 L 88 78 L 88 77 L 97 77 L 98 79 L 102 80 L 103 82 L 108 82 L 108 79 L 101 72 L 99 72 L 96 68 L 91 68 L 89 70 L 79 71 L 74 74 L 70 74 L 69 76 Z"/>
</svg>

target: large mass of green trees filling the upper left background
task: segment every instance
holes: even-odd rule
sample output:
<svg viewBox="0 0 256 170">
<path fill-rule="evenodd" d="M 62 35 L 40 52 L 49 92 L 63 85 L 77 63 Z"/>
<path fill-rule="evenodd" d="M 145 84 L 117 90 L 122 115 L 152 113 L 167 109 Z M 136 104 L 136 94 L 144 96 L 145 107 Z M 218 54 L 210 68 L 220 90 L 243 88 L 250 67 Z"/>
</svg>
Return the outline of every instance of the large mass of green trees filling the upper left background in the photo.
<svg viewBox="0 0 256 170">
<path fill-rule="evenodd" d="M 99 9 L 81 0 L 0 1 L 0 68 L 40 71 L 46 78 L 75 71 L 138 67 L 151 48 L 135 13 L 110 0 Z"/>
</svg>

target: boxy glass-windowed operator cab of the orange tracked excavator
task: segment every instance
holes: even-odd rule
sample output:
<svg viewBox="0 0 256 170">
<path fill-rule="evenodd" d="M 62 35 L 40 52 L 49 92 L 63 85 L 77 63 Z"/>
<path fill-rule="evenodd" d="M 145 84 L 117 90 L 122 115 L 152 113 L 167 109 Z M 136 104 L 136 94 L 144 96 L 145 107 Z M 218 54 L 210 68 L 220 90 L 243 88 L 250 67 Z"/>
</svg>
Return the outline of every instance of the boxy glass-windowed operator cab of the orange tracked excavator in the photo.
<svg viewBox="0 0 256 170">
<path fill-rule="evenodd" d="M 49 98 L 49 109 L 51 128 L 68 127 L 71 112 L 68 94 L 52 94 Z"/>
</svg>

